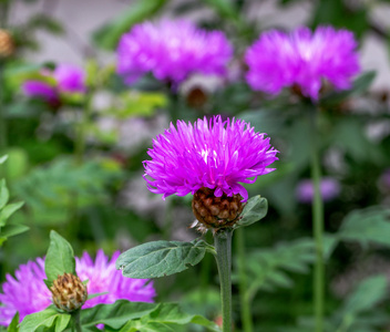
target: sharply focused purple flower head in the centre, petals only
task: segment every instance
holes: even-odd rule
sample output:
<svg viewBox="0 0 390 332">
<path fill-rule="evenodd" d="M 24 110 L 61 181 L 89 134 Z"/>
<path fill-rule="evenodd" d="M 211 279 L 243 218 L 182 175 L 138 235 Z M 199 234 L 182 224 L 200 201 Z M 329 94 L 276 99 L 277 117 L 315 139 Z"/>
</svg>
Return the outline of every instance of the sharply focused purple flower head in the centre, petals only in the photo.
<svg viewBox="0 0 390 332">
<path fill-rule="evenodd" d="M 242 120 L 223 121 L 214 116 L 197 120 L 194 125 L 177 121 L 153 141 L 145 160 L 144 179 L 152 193 L 166 196 L 195 194 L 202 187 L 215 189 L 215 196 L 247 190 L 238 183 L 250 184 L 257 176 L 275 170 L 266 168 L 278 158 L 265 134 L 255 133 Z"/>
</svg>

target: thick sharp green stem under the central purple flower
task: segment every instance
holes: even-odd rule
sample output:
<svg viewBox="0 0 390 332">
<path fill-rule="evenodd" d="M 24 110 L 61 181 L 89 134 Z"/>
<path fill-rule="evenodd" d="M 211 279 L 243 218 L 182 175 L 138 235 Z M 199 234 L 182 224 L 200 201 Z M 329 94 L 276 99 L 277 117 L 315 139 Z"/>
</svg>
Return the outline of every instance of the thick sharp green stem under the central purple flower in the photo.
<svg viewBox="0 0 390 332">
<path fill-rule="evenodd" d="M 232 332 L 232 228 L 215 232 L 214 245 L 220 282 L 223 332 Z"/>
</svg>

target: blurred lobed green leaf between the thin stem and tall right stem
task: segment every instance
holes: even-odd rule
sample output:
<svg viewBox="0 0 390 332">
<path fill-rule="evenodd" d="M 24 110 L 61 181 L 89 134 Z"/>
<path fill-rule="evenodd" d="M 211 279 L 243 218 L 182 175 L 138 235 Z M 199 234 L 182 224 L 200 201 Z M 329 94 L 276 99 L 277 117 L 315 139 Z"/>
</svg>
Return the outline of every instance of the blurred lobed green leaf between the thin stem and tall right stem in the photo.
<svg viewBox="0 0 390 332">
<path fill-rule="evenodd" d="M 311 239 L 302 238 L 247 253 L 247 295 L 253 299 L 259 290 L 291 288 L 294 282 L 287 272 L 308 273 L 315 260 L 314 248 Z"/>
</svg>

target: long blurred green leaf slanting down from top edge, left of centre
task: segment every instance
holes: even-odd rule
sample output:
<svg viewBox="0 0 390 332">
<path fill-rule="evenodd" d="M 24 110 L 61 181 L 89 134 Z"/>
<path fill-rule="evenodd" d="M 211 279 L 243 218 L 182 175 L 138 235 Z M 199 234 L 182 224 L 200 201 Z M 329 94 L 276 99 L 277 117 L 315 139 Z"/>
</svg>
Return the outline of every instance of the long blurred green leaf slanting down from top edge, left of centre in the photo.
<svg viewBox="0 0 390 332">
<path fill-rule="evenodd" d="M 115 18 L 111 23 L 105 24 L 93 33 L 94 43 L 106 50 L 114 50 L 121 35 L 127 32 L 134 24 L 150 19 L 167 0 L 138 0 L 130 4 L 129 10 Z"/>
</svg>

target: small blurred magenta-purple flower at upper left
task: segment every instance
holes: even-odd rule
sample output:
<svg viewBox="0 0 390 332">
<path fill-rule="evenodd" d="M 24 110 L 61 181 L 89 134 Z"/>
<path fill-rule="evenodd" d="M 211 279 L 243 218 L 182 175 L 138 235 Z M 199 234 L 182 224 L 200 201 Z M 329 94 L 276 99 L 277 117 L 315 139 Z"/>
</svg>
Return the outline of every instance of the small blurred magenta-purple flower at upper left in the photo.
<svg viewBox="0 0 390 332">
<path fill-rule="evenodd" d="M 60 101 L 60 93 L 84 93 L 85 74 L 84 72 L 70 64 L 59 64 L 53 72 L 44 70 L 43 76 L 54 79 L 54 83 L 50 84 L 45 81 L 30 80 L 22 85 L 23 93 L 30 97 L 43 98 L 50 104 Z"/>
</svg>

